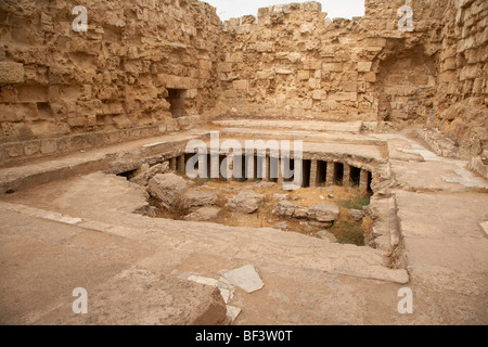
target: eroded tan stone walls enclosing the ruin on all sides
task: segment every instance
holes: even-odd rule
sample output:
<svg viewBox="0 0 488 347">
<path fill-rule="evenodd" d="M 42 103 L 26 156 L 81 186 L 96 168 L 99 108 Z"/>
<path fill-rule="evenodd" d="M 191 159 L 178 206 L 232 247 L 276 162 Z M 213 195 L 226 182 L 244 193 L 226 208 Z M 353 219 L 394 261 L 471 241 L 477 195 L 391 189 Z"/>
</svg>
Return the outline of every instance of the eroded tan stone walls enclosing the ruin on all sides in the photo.
<svg viewBox="0 0 488 347">
<path fill-rule="evenodd" d="M 413 31 L 400 30 L 402 5 Z M 75 33 L 75 5 L 89 29 Z M 178 129 L 176 117 L 313 116 L 439 127 L 487 150 L 486 0 L 320 3 L 223 25 L 193 0 L 0 1 L 0 163 Z"/>
</svg>

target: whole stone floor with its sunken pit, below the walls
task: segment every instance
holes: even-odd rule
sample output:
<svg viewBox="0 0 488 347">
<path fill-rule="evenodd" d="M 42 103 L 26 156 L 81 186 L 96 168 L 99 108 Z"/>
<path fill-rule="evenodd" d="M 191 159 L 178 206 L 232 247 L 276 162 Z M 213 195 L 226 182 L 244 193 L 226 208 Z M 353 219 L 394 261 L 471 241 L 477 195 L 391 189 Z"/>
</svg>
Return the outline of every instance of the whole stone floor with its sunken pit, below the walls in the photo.
<svg viewBox="0 0 488 347">
<path fill-rule="evenodd" d="M 322 126 L 227 120 L 0 169 L 0 322 L 488 323 L 487 181 L 411 131 Z M 189 179 L 178 160 L 211 130 L 304 139 L 304 187 Z M 157 198 L 157 177 L 184 181 L 172 206 L 184 209 Z M 312 208 L 324 204 L 331 220 Z M 237 269 L 259 285 L 233 281 Z M 89 314 L 73 312 L 77 287 Z M 398 311 L 406 287 L 412 314 Z"/>
</svg>

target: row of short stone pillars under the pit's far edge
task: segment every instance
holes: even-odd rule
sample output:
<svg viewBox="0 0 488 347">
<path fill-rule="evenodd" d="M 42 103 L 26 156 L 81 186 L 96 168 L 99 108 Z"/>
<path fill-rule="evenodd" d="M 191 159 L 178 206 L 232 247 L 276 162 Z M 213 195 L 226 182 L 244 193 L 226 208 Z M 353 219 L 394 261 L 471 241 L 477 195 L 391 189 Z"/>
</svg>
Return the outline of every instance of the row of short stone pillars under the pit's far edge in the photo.
<svg viewBox="0 0 488 347">
<path fill-rule="evenodd" d="M 180 175 L 185 175 L 187 163 L 193 155 L 180 155 L 169 160 L 170 169 Z M 220 172 L 222 162 L 227 158 L 230 163 L 227 177 Z M 220 155 L 219 160 L 211 160 L 210 155 L 205 158 L 207 164 L 207 177 L 211 171 L 220 172 L 219 179 L 227 181 L 294 181 L 294 175 L 301 175 L 303 188 L 318 188 L 330 185 L 359 187 L 363 193 L 371 192 L 372 174 L 369 170 L 357 168 L 344 163 L 324 162 L 316 159 L 304 159 L 301 174 L 295 169 L 294 160 L 290 160 L 290 168 L 285 168 L 283 160 L 275 157 L 251 156 L 241 158 L 241 168 L 234 165 L 234 156 Z M 214 168 L 211 167 L 214 165 Z M 196 164 L 198 166 L 198 164 Z M 279 169 L 280 168 L 280 169 Z M 288 169 L 294 171 L 290 178 L 284 178 L 283 172 Z M 240 172 L 236 172 L 236 171 Z"/>
</svg>

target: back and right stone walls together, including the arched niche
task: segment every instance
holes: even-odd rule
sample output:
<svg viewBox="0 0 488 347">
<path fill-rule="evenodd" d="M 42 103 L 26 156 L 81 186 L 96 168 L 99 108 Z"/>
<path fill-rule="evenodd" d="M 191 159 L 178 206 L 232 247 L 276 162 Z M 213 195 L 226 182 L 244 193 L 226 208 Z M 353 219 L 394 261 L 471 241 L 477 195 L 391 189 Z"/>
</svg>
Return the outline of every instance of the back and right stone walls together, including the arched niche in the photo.
<svg viewBox="0 0 488 347">
<path fill-rule="evenodd" d="M 413 11 L 413 31 L 398 10 Z M 439 127 L 461 157 L 487 149 L 484 0 L 365 0 L 364 17 L 317 2 L 224 23 L 221 101 L 236 114 Z M 404 14 L 404 13 L 403 13 Z"/>
</svg>

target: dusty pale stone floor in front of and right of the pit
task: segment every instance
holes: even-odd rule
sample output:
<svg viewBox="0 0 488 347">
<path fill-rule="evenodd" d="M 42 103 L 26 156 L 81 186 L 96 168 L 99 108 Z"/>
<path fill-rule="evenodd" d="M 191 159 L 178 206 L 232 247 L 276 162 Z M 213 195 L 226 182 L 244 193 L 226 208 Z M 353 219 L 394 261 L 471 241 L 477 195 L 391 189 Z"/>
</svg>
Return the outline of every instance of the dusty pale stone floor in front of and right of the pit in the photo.
<svg viewBox="0 0 488 347">
<path fill-rule="evenodd" d="M 133 214 L 146 204 L 143 189 L 98 172 L 1 196 L 0 322 L 198 322 L 215 293 L 176 279 L 218 278 L 252 264 L 265 287 L 236 290 L 235 324 L 487 324 L 486 181 L 461 177 L 463 163 L 419 151 L 404 137 L 387 141 L 406 270 L 388 269 L 380 249 L 143 217 Z M 86 317 L 72 311 L 75 287 L 89 292 Z M 413 314 L 398 312 L 403 287 L 413 292 Z"/>
</svg>

